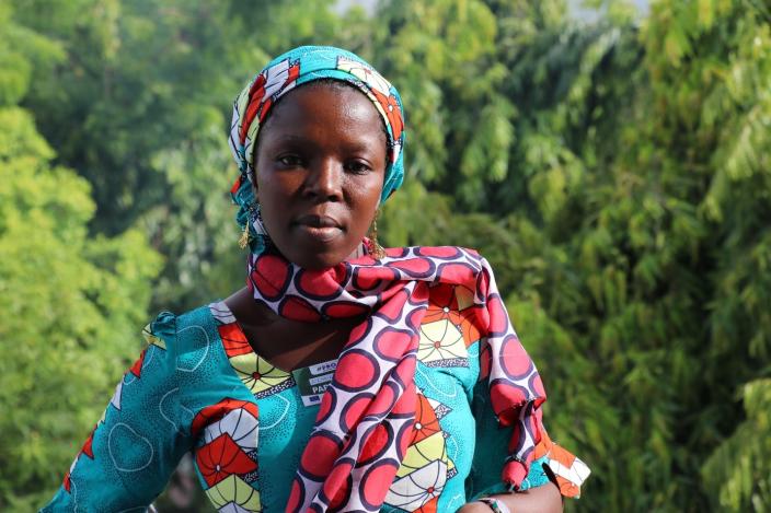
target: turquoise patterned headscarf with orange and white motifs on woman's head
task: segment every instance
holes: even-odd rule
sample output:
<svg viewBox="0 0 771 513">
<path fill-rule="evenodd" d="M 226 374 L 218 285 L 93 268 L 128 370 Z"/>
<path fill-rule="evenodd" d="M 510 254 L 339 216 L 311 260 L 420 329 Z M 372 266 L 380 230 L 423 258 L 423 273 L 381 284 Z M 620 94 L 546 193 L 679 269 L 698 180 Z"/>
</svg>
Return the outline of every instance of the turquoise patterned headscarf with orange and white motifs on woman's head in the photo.
<svg viewBox="0 0 771 513">
<path fill-rule="evenodd" d="M 360 57 L 331 46 L 300 46 L 275 58 L 241 91 L 233 104 L 230 149 L 241 171 L 230 193 L 239 206 L 237 221 L 249 225 L 252 253 L 264 246 L 265 231 L 258 215 L 251 180 L 254 179 L 254 151 L 260 127 L 278 98 L 303 83 L 340 80 L 361 91 L 383 119 L 388 135 L 388 166 L 380 195 L 384 201 L 404 178 L 404 110 L 402 98 L 375 68 Z"/>
</svg>

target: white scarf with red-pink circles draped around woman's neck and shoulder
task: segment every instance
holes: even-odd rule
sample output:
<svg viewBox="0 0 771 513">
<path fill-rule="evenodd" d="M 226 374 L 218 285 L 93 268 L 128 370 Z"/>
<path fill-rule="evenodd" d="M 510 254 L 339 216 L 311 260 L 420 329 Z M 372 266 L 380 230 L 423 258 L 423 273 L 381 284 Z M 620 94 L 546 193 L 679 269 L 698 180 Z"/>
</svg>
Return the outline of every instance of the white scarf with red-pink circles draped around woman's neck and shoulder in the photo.
<svg viewBox="0 0 771 513">
<path fill-rule="evenodd" d="M 488 380 L 499 422 L 511 428 L 504 482 L 519 486 L 525 474 L 517 465 L 527 470 L 532 460 L 542 429 L 543 385 L 511 327 L 487 261 L 459 247 L 386 253 L 381 260 L 363 257 L 321 271 L 300 269 L 273 253 L 250 256 L 255 300 L 281 316 L 318 322 L 369 313 L 352 330 L 322 396 L 287 511 L 380 509 L 414 438 L 419 327 L 439 284 L 465 291 L 469 314 L 447 320 L 467 337 L 479 334 L 481 376 Z M 454 311 L 453 294 L 447 301 Z M 434 310 L 430 315 L 441 319 L 445 314 Z M 421 408 L 427 415 L 425 405 Z"/>
</svg>

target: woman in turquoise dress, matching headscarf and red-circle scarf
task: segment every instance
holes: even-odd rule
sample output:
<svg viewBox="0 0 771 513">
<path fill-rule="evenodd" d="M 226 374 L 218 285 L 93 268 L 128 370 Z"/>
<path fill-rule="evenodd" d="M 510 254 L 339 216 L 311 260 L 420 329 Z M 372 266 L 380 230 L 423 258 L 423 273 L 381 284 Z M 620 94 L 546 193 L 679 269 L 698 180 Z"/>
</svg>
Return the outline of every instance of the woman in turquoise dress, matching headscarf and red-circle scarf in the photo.
<svg viewBox="0 0 771 513">
<path fill-rule="evenodd" d="M 249 287 L 148 326 L 45 510 L 140 511 L 193 451 L 220 511 L 561 511 L 588 470 L 541 424 L 487 263 L 366 236 L 403 177 L 395 89 L 296 48 L 237 98 L 230 145 Z"/>
</svg>

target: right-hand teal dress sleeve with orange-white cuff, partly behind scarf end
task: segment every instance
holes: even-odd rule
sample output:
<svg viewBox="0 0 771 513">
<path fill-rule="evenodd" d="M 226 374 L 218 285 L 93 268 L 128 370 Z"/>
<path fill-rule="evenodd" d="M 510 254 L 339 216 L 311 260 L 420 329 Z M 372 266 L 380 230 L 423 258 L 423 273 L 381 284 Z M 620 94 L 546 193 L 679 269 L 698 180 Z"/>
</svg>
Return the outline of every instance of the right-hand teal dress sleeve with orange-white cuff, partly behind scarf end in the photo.
<svg viewBox="0 0 771 513">
<path fill-rule="evenodd" d="M 511 430 L 498 424 L 485 381 L 474 386 L 471 403 L 476 424 L 476 444 L 471 473 L 467 482 L 467 497 L 474 500 L 494 493 L 507 493 L 500 475 L 504 456 L 511 438 Z M 589 468 L 568 451 L 552 442 L 545 429 L 540 431 L 530 470 L 520 490 L 528 490 L 554 482 L 564 497 L 578 498 L 580 485 L 589 476 Z"/>
</svg>

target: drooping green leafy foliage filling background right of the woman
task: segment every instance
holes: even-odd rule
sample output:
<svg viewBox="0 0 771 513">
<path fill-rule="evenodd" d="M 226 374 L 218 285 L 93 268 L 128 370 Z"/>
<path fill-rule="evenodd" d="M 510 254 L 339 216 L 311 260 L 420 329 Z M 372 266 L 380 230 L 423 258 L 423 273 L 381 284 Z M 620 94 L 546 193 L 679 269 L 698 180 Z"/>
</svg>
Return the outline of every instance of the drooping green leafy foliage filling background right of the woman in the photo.
<svg viewBox="0 0 771 513">
<path fill-rule="evenodd" d="M 410 45 L 418 32 L 423 48 L 452 42 L 417 23 L 406 33 L 405 16 L 408 40 L 382 47 L 410 57 L 383 60 L 408 62 L 392 73 L 421 75 L 419 101 L 436 98 L 415 137 L 439 138 L 440 171 L 418 168 L 427 190 L 387 206 L 382 224 L 390 235 L 411 220 L 400 243 L 488 256 L 551 383 L 553 434 L 595 470 L 576 509 L 700 511 L 720 495 L 760 511 L 766 495 L 702 465 L 735 432 L 737 388 L 769 363 L 769 15 L 756 2 L 659 1 L 641 30 L 628 5 L 598 3 L 608 16 L 577 25 L 554 3 L 490 2 L 494 49 L 444 74 L 430 66 L 441 51 L 410 63 Z M 495 81 L 485 63 L 503 65 Z M 728 446 L 743 469 L 769 455 Z"/>
</svg>

